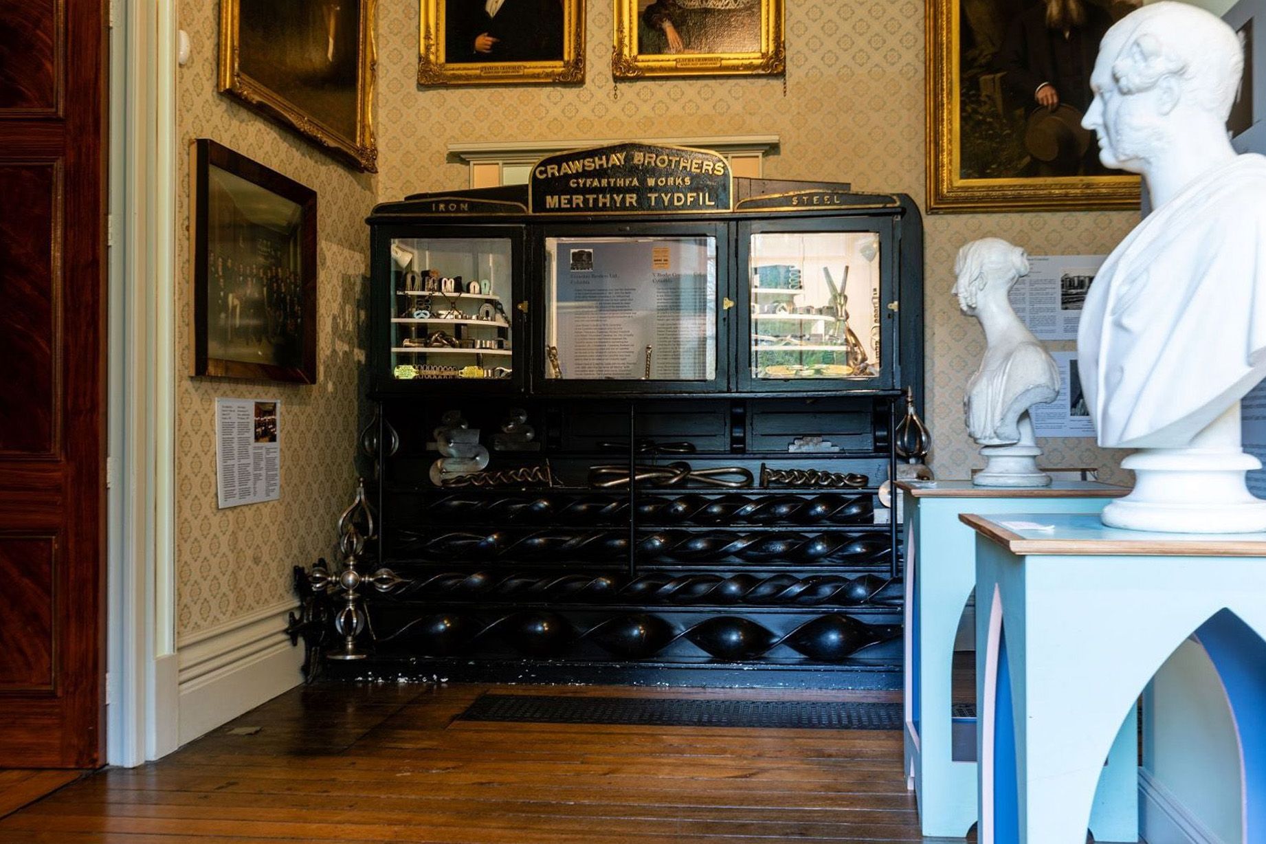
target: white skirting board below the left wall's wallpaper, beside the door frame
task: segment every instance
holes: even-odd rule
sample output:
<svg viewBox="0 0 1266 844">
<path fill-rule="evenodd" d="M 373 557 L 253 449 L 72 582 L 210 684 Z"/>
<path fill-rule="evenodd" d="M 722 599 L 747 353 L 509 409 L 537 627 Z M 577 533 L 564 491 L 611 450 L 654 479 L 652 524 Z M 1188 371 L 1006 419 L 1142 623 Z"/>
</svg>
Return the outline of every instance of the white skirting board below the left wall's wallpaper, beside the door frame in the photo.
<svg viewBox="0 0 1266 844">
<path fill-rule="evenodd" d="M 303 682 L 303 643 L 284 633 L 292 609 L 265 607 L 179 642 L 181 744 Z"/>
</svg>

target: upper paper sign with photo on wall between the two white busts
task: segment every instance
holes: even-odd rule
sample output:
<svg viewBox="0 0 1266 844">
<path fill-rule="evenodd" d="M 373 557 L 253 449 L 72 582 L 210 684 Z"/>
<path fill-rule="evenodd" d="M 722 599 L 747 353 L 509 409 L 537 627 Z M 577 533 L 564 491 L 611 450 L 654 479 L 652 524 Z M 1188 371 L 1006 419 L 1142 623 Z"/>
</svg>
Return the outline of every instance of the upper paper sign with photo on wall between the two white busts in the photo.
<svg viewBox="0 0 1266 844">
<path fill-rule="evenodd" d="M 1075 340 L 1081 305 L 1106 256 L 1029 256 L 1029 275 L 1012 287 L 1012 307 L 1041 340 Z"/>
</svg>

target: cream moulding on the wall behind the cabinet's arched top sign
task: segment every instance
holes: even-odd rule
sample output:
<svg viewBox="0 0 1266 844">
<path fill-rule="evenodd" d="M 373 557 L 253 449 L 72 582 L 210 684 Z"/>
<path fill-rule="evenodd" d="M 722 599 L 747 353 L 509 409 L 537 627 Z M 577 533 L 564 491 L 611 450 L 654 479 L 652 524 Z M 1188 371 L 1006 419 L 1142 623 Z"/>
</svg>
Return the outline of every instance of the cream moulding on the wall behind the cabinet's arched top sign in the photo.
<svg viewBox="0 0 1266 844">
<path fill-rule="evenodd" d="M 546 156 L 568 149 L 587 149 L 623 143 L 628 138 L 573 139 L 573 140 L 520 140 L 520 142 L 456 142 L 448 144 L 448 161 L 466 164 L 470 171 L 468 187 L 495 187 L 520 185 L 528 181 L 532 164 Z M 765 175 L 765 157 L 779 151 L 779 135 L 690 135 L 681 138 L 638 138 L 638 140 L 666 147 L 694 147 L 711 149 L 724 156 L 736 176 L 761 178 Z"/>
</svg>

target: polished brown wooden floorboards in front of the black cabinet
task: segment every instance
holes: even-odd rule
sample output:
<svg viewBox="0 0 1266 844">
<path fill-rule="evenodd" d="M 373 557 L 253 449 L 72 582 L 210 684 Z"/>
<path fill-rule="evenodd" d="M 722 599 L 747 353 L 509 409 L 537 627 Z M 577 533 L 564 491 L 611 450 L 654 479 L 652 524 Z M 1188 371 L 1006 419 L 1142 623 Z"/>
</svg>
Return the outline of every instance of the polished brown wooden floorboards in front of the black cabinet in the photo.
<svg viewBox="0 0 1266 844">
<path fill-rule="evenodd" d="M 924 840 L 900 733 L 452 721 L 487 690 L 298 688 L 161 762 L 97 773 L 9 815 L 0 843 Z"/>
</svg>

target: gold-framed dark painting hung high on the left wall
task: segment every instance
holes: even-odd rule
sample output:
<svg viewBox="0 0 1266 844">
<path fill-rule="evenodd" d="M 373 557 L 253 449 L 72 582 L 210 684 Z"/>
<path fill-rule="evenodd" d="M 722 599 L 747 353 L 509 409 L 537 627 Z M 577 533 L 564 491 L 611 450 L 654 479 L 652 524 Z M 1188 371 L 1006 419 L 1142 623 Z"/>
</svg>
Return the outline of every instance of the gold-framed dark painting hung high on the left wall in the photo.
<svg viewBox="0 0 1266 844">
<path fill-rule="evenodd" d="M 220 0 L 220 91 L 377 172 L 376 0 Z"/>
</svg>

